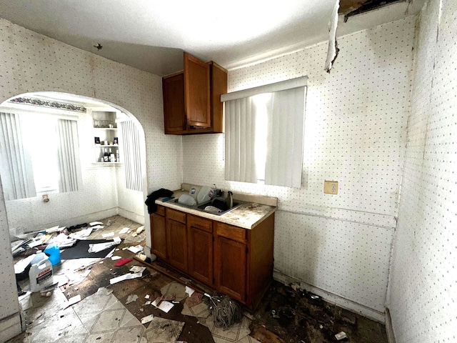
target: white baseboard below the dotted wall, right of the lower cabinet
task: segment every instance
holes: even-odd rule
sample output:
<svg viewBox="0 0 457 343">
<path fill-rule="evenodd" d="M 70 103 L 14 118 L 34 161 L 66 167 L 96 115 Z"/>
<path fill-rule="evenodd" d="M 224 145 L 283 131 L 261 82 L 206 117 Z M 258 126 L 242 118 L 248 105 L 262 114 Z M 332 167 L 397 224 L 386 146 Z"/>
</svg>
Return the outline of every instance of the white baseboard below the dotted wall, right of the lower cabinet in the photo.
<svg viewBox="0 0 457 343">
<path fill-rule="evenodd" d="M 331 292 L 327 292 L 323 289 L 318 287 L 314 287 L 311 284 L 298 280 L 294 277 L 289 277 L 288 275 L 284 275 L 281 272 L 273 271 L 273 279 L 283 284 L 292 284 L 297 283 L 300 284 L 301 289 L 306 289 L 307 292 L 311 292 L 313 294 L 318 295 L 326 302 L 331 302 L 332 304 L 336 304 L 343 309 L 348 309 L 349 311 L 355 312 L 357 314 L 361 314 L 363 317 L 367 317 L 369 319 L 373 319 L 376 322 L 385 323 L 386 317 L 383 312 L 379 312 L 376 309 L 371 309 L 366 307 L 362 304 L 358 304 L 353 302 L 352 300 L 345 299 L 340 297 L 339 295 L 333 294 Z"/>
</svg>

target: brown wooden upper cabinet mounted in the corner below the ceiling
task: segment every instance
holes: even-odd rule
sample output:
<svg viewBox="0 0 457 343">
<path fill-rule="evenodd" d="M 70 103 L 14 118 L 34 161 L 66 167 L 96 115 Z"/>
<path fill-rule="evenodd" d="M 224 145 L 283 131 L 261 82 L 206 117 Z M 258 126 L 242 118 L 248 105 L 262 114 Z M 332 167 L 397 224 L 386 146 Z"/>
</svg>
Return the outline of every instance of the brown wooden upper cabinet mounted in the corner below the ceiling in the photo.
<svg viewBox="0 0 457 343">
<path fill-rule="evenodd" d="M 227 92 L 226 69 L 184 53 L 184 71 L 164 76 L 162 86 L 165 134 L 224 132 L 221 94 Z"/>
</svg>

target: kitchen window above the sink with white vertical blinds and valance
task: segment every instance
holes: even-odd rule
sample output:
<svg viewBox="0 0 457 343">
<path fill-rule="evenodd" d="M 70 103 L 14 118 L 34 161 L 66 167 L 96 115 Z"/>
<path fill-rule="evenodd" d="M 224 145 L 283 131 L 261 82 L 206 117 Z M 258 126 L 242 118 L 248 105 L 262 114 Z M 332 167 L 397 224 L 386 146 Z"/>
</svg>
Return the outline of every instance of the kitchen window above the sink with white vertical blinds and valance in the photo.
<svg viewBox="0 0 457 343">
<path fill-rule="evenodd" d="M 236 91 L 225 102 L 225 178 L 301 187 L 307 77 Z"/>
</svg>

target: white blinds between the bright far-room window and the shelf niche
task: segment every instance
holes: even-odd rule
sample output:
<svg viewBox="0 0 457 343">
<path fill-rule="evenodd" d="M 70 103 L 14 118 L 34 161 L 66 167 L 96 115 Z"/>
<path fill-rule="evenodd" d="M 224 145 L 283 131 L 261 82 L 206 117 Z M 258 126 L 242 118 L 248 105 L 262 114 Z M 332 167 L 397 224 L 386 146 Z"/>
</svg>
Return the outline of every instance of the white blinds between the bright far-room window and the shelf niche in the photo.
<svg viewBox="0 0 457 343">
<path fill-rule="evenodd" d="M 82 185 L 81 158 L 79 156 L 78 123 L 76 120 L 59 119 L 59 192 L 76 192 Z"/>
</svg>

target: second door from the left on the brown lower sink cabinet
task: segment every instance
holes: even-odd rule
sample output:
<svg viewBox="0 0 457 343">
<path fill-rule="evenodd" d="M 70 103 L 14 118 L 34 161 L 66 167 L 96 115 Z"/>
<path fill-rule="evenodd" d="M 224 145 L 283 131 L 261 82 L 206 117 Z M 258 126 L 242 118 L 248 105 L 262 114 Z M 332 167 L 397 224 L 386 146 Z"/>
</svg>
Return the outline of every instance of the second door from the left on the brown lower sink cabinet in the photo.
<svg viewBox="0 0 457 343">
<path fill-rule="evenodd" d="M 169 262 L 182 272 L 187 272 L 186 224 L 166 219 L 166 242 Z"/>
</svg>

